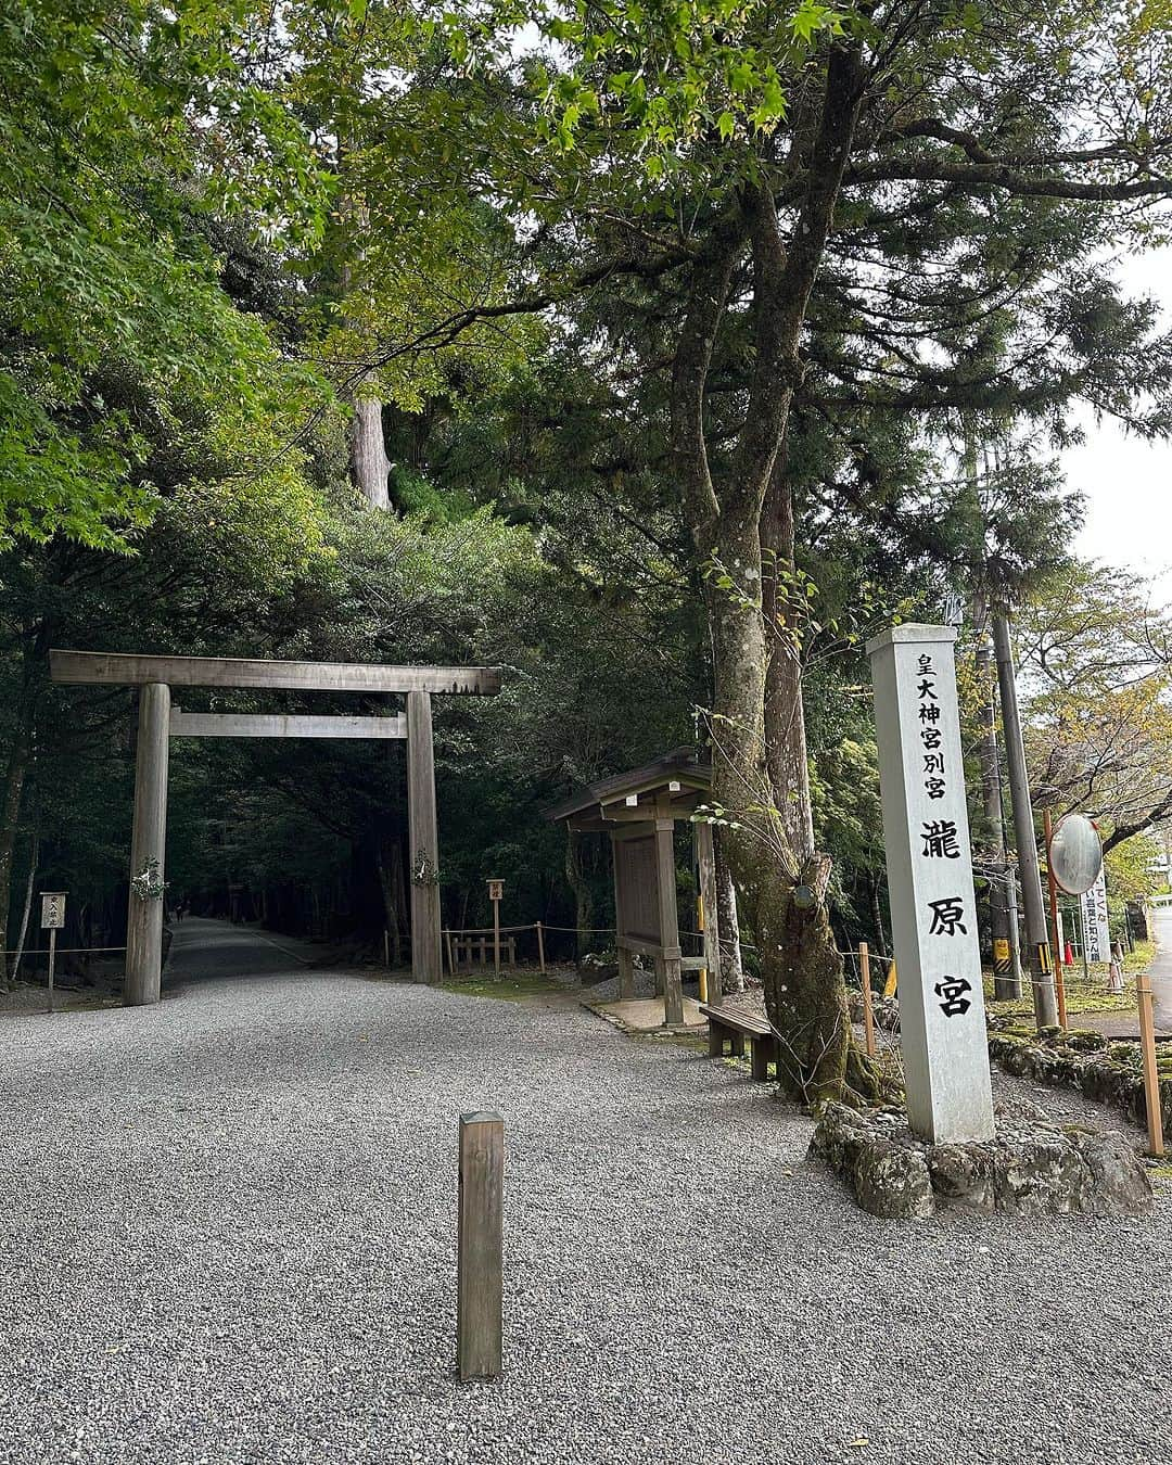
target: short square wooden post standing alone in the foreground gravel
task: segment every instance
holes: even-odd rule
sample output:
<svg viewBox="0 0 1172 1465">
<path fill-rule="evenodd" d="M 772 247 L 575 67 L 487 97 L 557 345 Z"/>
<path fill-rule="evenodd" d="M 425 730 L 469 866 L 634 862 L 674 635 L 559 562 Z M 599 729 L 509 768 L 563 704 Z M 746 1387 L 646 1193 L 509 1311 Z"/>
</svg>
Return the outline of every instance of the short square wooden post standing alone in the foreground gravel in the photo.
<svg viewBox="0 0 1172 1465">
<path fill-rule="evenodd" d="M 504 1119 L 460 1115 L 456 1360 L 460 1379 L 501 1371 Z"/>
</svg>

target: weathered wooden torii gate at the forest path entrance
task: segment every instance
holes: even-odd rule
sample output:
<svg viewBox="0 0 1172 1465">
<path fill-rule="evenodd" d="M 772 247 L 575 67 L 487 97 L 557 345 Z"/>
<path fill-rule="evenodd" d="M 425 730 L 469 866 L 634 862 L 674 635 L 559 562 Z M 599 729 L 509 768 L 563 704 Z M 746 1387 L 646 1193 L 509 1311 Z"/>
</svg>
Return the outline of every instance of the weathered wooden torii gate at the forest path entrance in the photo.
<svg viewBox="0 0 1172 1465">
<path fill-rule="evenodd" d="M 251 661 L 226 656 L 145 656 L 117 652 L 50 650 L 54 681 L 136 686 L 135 822 L 130 878 L 157 869 L 163 879 L 167 845 L 167 766 L 173 737 L 406 738 L 407 826 L 412 875 L 412 976 L 438 982 L 440 829 L 435 812 L 432 693 L 495 696 L 497 667 L 381 667 L 363 662 Z M 294 691 L 397 691 L 406 716 L 315 716 L 296 713 L 183 712 L 171 687 L 252 687 Z M 163 979 L 163 901 L 130 891 L 126 923 L 127 1006 L 158 1002 Z"/>
</svg>

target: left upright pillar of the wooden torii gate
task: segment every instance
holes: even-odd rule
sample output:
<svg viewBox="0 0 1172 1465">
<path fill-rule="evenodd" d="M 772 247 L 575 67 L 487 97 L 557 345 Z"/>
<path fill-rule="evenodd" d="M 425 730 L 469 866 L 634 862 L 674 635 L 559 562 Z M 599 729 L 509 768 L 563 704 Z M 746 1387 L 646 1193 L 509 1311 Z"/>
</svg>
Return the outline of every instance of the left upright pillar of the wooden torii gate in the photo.
<svg viewBox="0 0 1172 1465">
<path fill-rule="evenodd" d="M 130 837 L 130 880 L 151 873 L 163 880 L 167 857 L 167 759 L 171 724 L 171 689 L 148 681 L 138 703 L 138 754 L 135 759 L 135 823 Z M 135 894 L 126 916 L 126 1006 L 158 1002 L 163 974 L 163 897 Z"/>
</svg>

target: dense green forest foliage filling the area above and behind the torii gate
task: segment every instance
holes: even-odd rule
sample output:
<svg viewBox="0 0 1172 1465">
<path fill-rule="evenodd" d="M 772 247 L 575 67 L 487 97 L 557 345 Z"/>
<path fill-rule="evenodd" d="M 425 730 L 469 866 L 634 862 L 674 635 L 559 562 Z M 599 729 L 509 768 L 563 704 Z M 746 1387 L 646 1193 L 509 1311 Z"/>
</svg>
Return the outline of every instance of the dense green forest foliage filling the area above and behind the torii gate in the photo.
<svg viewBox="0 0 1172 1465">
<path fill-rule="evenodd" d="M 1166 231 L 1168 62 L 1140 0 L 6 12 L 0 935 L 29 875 L 85 941 L 125 919 L 132 697 L 51 687 L 54 645 L 504 667 L 440 712 L 453 924 L 500 876 L 605 927 L 542 809 L 716 728 L 746 936 L 825 948 L 819 1043 L 834 946 L 883 945 L 867 634 L 958 598 L 971 658 L 1008 607 L 1040 801 L 1160 823 L 1168 618 L 1072 560 L 1053 456 L 1075 401 L 1172 423 L 1116 268 Z M 176 747 L 208 908 L 404 938 L 403 826 L 396 752 Z"/>
</svg>

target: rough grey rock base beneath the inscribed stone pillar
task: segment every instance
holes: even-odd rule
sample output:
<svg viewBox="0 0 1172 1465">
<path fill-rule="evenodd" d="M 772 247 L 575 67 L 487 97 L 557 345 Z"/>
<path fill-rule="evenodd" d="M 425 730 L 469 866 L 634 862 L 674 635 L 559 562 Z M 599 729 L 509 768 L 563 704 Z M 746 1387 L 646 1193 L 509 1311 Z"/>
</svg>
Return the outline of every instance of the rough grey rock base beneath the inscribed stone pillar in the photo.
<svg viewBox="0 0 1172 1465">
<path fill-rule="evenodd" d="M 873 1216 L 917 1220 L 939 1206 L 1020 1216 L 1137 1216 L 1151 1182 L 1118 1131 L 1052 1124 L 1036 1106 L 996 1106 L 996 1137 L 926 1144 L 900 1109 L 828 1105 L 810 1143 Z"/>
</svg>

